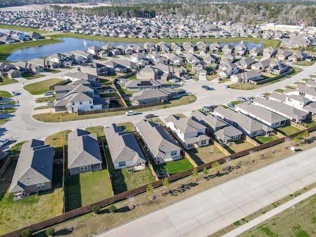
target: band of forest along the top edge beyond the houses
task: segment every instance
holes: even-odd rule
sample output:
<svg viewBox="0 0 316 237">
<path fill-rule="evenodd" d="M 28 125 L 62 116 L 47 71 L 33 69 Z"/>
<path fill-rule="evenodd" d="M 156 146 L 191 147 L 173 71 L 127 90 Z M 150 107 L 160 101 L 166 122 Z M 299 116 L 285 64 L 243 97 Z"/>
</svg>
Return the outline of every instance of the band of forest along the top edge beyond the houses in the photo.
<svg viewBox="0 0 316 237">
<path fill-rule="evenodd" d="M 49 4 L 46 11 L 73 12 L 100 16 L 155 17 L 158 15 L 187 17 L 213 21 L 233 21 L 247 24 L 276 22 L 316 26 L 315 0 L 1 0 L 0 7 L 22 4 Z M 111 6 L 81 8 L 54 3 L 103 2 Z M 137 3 L 139 2 L 139 3 Z M 232 3 L 234 2 L 234 3 Z M 137 3 L 137 4 L 135 4 Z"/>
</svg>

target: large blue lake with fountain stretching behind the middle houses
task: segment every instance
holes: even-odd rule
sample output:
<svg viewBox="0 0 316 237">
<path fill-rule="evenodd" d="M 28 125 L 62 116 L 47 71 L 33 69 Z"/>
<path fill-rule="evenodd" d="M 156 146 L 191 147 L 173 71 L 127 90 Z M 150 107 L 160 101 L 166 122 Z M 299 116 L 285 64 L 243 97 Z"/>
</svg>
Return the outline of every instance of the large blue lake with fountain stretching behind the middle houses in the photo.
<svg viewBox="0 0 316 237">
<path fill-rule="evenodd" d="M 137 44 L 139 46 L 143 46 L 144 43 L 131 43 L 131 42 L 114 42 L 114 41 L 101 41 L 101 40 L 85 40 L 87 45 L 83 45 L 83 39 L 76 39 L 76 38 L 60 38 L 64 40 L 61 43 L 54 43 L 54 44 L 46 44 L 41 46 L 29 47 L 29 48 L 22 48 L 19 50 L 14 51 L 9 57 L 7 57 L 7 61 L 9 62 L 18 62 L 18 61 L 28 61 L 33 58 L 43 58 L 48 57 L 54 53 L 65 53 L 75 50 L 84 50 L 86 51 L 88 47 L 93 45 L 103 46 L 105 44 L 112 44 L 113 46 L 123 45 L 127 46 L 128 44 Z M 128 40 L 128 39 L 126 39 Z M 161 40 L 163 41 L 163 39 Z M 236 46 L 240 42 L 230 42 L 230 44 Z M 211 43 L 207 43 L 209 46 Z M 221 46 L 227 43 L 220 43 Z M 261 43 L 252 43 L 252 42 L 245 42 L 244 43 L 248 48 L 253 47 L 262 47 L 263 44 Z"/>
</svg>

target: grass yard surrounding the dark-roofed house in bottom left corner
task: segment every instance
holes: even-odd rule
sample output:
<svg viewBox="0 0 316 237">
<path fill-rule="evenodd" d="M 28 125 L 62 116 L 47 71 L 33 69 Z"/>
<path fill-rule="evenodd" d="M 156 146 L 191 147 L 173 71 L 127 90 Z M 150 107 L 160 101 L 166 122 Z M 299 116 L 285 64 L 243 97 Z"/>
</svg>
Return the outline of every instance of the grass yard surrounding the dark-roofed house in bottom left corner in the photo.
<svg viewBox="0 0 316 237">
<path fill-rule="evenodd" d="M 12 160 L 0 178 L 0 235 L 62 214 L 62 165 L 54 165 L 52 190 L 13 200 L 8 193 L 16 166 Z"/>
</svg>

